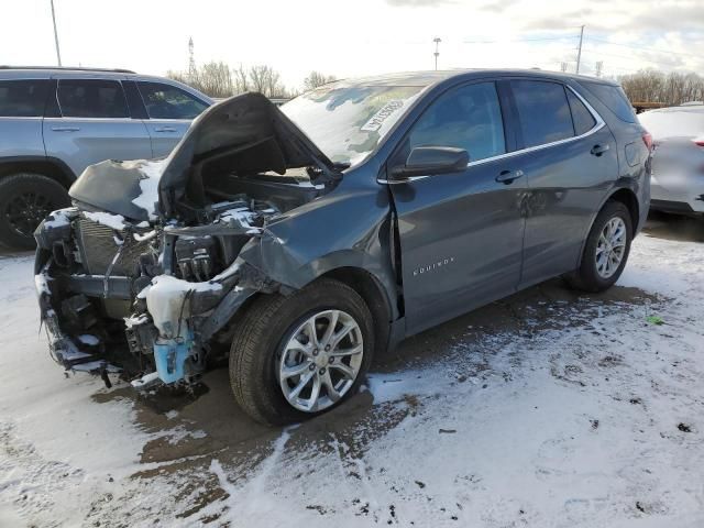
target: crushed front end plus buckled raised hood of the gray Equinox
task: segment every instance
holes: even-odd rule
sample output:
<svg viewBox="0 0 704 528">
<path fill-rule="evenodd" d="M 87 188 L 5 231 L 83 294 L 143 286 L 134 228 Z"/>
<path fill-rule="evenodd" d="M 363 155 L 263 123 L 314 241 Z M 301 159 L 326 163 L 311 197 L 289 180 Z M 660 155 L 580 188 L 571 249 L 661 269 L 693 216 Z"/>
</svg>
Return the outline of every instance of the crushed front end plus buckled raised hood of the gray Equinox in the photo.
<svg viewBox="0 0 704 528">
<path fill-rule="evenodd" d="M 326 194 L 332 164 L 277 113 L 244 134 L 243 120 L 277 110 L 257 95 L 232 101 L 199 118 L 164 161 L 88 167 L 70 189 L 75 207 L 36 230 L 42 320 L 65 369 L 108 386 L 118 372 L 138 388 L 191 382 L 250 297 L 286 289 L 242 255 L 285 243 L 270 224 Z"/>
</svg>

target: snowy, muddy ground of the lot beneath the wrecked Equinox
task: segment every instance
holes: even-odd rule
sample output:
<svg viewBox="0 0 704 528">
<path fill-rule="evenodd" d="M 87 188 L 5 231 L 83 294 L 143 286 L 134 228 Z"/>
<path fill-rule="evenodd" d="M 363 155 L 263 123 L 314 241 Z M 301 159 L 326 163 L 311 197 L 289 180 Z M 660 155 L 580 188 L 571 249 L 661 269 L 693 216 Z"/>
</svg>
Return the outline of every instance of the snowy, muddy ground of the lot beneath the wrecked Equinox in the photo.
<svg viewBox="0 0 704 528">
<path fill-rule="evenodd" d="M 266 430 L 222 371 L 155 407 L 64 378 L 31 257 L 0 258 L 0 526 L 704 526 L 702 277 L 703 244 L 641 235 L 622 287 L 519 294 Z"/>
</svg>

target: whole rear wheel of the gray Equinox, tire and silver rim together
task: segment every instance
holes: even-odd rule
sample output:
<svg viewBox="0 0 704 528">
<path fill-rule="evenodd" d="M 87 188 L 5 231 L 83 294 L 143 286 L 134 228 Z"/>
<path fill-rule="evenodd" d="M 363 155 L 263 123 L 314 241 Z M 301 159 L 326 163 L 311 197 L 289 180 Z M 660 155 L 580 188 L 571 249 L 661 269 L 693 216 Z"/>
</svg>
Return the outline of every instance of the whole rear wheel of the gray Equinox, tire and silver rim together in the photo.
<svg viewBox="0 0 704 528">
<path fill-rule="evenodd" d="M 626 267 L 632 232 L 628 208 L 619 201 L 606 202 L 586 239 L 579 270 L 566 277 L 570 284 L 585 292 L 612 287 Z"/>
</svg>

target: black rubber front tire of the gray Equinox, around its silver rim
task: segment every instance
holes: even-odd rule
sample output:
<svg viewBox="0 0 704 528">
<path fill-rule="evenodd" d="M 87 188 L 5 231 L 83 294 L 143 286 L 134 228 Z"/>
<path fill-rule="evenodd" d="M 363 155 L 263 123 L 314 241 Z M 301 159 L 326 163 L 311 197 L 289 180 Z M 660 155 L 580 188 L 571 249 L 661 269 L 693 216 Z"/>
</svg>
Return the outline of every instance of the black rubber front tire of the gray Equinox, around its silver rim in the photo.
<svg viewBox="0 0 704 528">
<path fill-rule="evenodd" d="M 340 343 L 350 340 L 352 348 L 354 342 L 352 341 L 361 336 L 362 352 L 361 358 L 359 354 L 354 356 L 345 358 L 327 358 L 328 352 L 324 352 L 323 358 L 322 343 L 324 342 L 324 333 L 320 340 L 321 350 L 317 353 L 317 356 L 312 356 L 312 352 L 317 349 L 309 349 L 308 352 L 300 352 L 299 364 L 296 364 L 294 369 L 308 369 L 302 371 L 300 377 L 284 377 L 279 375 L 280 369 L 283 369 L 282 358 L 290 359 L 293 353 L 297 353 L 297 346 L 293 349 L 288 348 L 295 337 L 301 336 L 295 334 L 296 330 L 306 324 L 311 317 L 319 316 L 321 312 L 330 312 L 331 310 L 339 311 L 339 321 L 336 318 L 333 324 L 333 332 L 336 328 L 340 328 L 339 334 L 343 333 L 342 328 L 346 328 L 342 324 L 352 327 L 352 320 L 358 324 L 358 330 L 352 330 L 343 338 Z M 322 318 L 317 319 L 318 324 L 330 322 L 332 319 Z M 330 316 L 332 317 L 332 316 Z M 349 317 L 349 318 L 348 318 Z M 322 321 L 322 322 L 320 322 Z M 341 321 L 341 322 L 340 322 Z M 346 322 L 345 322 L 346 321 Z M 330 324 L 328 324 L 330 326 Z M 309 327 L 306 327 L 309 328 Z M 324 327 L 323 327 L 324 328 Z M 322 331 L 322 330 L 321 330 Z M 334 333 L 332 338 L 334 338 Z M 318 339 L 318 338 L 317 338 Z M 300 344 L 300 341 L 296 341 Z M 310 342 L 306 346 L 312 346 Z M 340 351 L 342 344 L 334 345 L 331 354 L 334 355 L 334 351 Z M 352 350 L 352 349 L 346 349 Z M 327 351 L 327 349 L 326 349 Z M 342 353 L 345 352 L 344 350 Z M 238 321 L 235 332 L 232 339 L 232 346 L 230 350 L 230 384 L 234 394 L 234 399 L 240 407 L 248 413 L 253 419 L 258 422 L 280 426 L 297 421 L 309 419 L 314 416 L 318 416 L 326 413 L 333 407 L 337 407 L 351 395 L 355 394 L 360 384 L 362 383 L 366 371 L 372 362 L 374 352 L 374 326 L 372 322 L 372 316 L 364 300 L 360 295 L 349 286 L 333 279 L 321 278 L 312 283 L 311 285 L 289 295 L 263 295 L 255 299 L 250 305 L 242 318 Z M 340 352 L 339 352 L 340 353 Z M 307 354 L 307 355 L 306 355 Z M 328 364 L 316 364 L 315 362 Z M 349 361 L 352 364 L 354 361 L 355 369 L 359 369 L 356 376 L 345 377 L 341 375 L 343 366 L 349 370 L 348 364 L 341 364 L 344 361 Z M 306 362 L 311 362 L 306 364 Z M 336 366 L 333 363 L 338 362 Z M 310 369 L 314 365 L 315 369 Z M 327 367 L 327 369 L 326 369 Z M 340 376 L 339 382 L 336 382 L 338 386 L 346 386 L 344 393 L 340 393 L 341 397 L 334 400 L 330 396 L 328 385 L 321 385 L 317 380 L 324 380 L 322 376 L 318 377 L 319 373 L 326 371 L 328 380 L 333 381 Z M 309 410 L 301 410 L 296 408 L 294 404 L 287 399 L 284 393 L 284 384 L 288 389 L 289 384 L 298 385 L 304 380 L 305 375 L 315 376 L 312 381 L 307 385 L 307 388 L 300 391 L 299 394 L 312 387 L 312 384 L 317 383 L 319 388 L 319 403 L 321 408 L 312 408 Z M 344 381 L 344 384 L 343 384 Z M 350 383 L 353 382 L 353 383 Z M 322 388 L 324 387 L 324 389 Z M 333 385 L 332 394 L 338 394 Z M 312 400 L 312 388 L 309 399 Z M 293 394 L 292 391 L 290 394 Z M 326 396 L 323 397 L 323 393 Z M 290 396 L 289 394 L 289 396 Z M 326 404 L 322 407 L 322 404 Z"/>
</svg>

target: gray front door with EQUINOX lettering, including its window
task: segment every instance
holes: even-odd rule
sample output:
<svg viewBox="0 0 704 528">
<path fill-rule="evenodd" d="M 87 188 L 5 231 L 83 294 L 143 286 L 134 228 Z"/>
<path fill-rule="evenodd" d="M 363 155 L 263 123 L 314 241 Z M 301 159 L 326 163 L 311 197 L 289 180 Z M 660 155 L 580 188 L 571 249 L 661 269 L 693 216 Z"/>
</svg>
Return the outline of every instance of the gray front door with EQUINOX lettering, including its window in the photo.
<svg viewBox="0 0 704 528">
<path fill-rule="evenodd" d="M 507 152 L 495 82 L 442 94 L 389 166 L 416 146 L 470 154 L 464 170 L 392 185 L 398 216 L 407 333 L 513 293 L 521 268 L 526 178 Z"/>
</svg>

